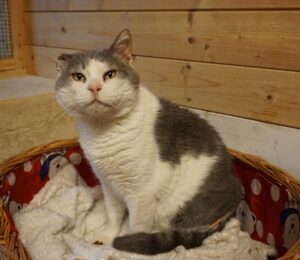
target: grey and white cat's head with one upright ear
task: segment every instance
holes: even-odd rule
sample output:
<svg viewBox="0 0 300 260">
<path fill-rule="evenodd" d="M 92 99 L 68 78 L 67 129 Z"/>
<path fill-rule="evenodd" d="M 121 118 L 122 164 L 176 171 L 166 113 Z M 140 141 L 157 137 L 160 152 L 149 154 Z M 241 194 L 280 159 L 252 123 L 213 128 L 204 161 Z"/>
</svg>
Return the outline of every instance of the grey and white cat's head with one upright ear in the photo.
<svg viewBox="0 0 300 260">
<path fill-rule="evenodd" d="M 140 80 L 130 65 L 132 38 L 123 30 L 109 49 L 61 54 L 56 98 L 70 115 L 124 116 L 136 104 Z"/>
</svg>

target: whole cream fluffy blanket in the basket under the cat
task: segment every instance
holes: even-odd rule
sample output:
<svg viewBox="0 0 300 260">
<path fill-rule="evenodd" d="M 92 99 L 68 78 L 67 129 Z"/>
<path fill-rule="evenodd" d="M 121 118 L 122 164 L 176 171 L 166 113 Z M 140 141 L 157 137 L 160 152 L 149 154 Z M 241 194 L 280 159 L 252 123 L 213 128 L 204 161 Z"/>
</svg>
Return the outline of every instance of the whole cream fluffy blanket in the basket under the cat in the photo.
<svg viewBox="0 0 300 260">
<path fill-rule="evenodd" d="M 94 245 L 101 238 L 106 215 L 101 188 L 90 188 L 68 164 L 14 215 L 27 251 L 33 260 L 54 259 L 266 259 L 276 250 L 251 240 L 232 219 L 224 230 L 208 237 L 199 248 L 179 246 L 157 256 L 141 256 Z"/>
</svg>

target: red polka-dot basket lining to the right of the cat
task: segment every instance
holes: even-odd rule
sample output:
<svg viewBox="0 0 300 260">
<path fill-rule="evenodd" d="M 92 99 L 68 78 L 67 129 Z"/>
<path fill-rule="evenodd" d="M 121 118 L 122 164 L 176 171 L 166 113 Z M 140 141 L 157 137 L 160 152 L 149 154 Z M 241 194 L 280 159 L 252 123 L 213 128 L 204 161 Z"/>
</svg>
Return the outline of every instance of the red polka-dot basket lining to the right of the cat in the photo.
<svg viewBox="0 0 300 260">
<path fill-rule="evenodd" d="M 300 237 L 299 201 L 286 187 L 263 172 L 235 162 L 235 169 L 243 187 L 243 198 L 236 217 L 241 228 L 255 240 L 277 248 L 283 255 Z"/>
</svg>

